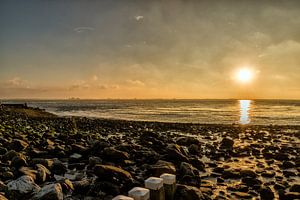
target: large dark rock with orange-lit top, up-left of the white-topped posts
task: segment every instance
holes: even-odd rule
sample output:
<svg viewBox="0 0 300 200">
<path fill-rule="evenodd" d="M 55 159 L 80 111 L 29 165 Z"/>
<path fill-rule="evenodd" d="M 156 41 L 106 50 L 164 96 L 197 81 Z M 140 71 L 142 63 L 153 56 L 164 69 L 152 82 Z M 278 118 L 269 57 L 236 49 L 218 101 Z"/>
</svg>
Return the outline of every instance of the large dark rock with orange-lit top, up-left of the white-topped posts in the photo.
<svg viewBox="0 0 300 200">
<path fill-rule="evenodd" d="M 132 180 L 129 172 L 111 165 L 95 165 L 94 173 L 102 180 L 112 180 L 113 178 L 126 181 Z"/>
</svg>

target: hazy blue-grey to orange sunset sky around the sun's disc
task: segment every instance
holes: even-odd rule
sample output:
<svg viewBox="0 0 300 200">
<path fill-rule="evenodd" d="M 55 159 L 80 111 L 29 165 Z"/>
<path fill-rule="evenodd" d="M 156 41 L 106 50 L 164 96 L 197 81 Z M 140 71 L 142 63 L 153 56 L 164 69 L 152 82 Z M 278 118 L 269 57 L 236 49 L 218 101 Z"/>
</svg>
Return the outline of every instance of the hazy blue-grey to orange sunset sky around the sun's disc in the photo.
<svg viewBox="0 0 300 200">
<path fill-rule="evenodd" d="M 0 0 L 0 27 L 0 98 L 300 99 L 299 0 Z"/>
</svg>

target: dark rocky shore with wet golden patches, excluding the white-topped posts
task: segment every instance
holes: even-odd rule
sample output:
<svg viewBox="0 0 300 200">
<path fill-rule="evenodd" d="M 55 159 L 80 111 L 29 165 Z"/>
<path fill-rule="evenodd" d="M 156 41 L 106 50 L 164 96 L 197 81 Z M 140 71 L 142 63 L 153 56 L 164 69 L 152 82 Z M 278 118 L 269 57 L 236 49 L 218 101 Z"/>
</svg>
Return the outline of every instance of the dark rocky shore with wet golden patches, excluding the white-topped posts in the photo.
<svg viewBox="0 0 300 200">
<path fill-rule="evenodd" d="M 0 107 L 0 200 L 112 199 L 176 174 L 176 200 L 300 199 L 300 126 L 57 117 Z"/>
</svg>

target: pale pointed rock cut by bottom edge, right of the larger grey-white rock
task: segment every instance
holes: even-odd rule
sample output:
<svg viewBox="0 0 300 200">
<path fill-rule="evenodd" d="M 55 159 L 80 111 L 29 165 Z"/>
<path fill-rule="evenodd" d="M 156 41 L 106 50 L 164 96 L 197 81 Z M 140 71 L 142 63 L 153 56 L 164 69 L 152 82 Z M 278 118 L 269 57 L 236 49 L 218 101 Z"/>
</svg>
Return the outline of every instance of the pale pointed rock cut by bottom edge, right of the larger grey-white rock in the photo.
<svg viewBox="0 0 300 200">
<path fill-rule="evenodd" d="M 33 200 L 63 200 L 62 187 L 59 183 L 45 185 L 36 195 Z"/>
</svg>

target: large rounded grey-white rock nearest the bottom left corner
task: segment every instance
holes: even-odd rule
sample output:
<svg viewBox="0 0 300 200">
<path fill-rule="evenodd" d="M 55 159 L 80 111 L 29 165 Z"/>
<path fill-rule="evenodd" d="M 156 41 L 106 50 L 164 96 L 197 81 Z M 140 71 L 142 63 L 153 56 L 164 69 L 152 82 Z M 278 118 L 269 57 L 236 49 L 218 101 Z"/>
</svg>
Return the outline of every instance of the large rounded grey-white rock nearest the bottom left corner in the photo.
<svg viewBox="0 0 300 200">
<path fill-rule="evenodd" d="M 9 199 L 28 199 L 32 194 L 38 192 L 40 187 L 35 184 L 30 176 L 21 176 L 7 184 L 7 193 Z"/>
</svg>

